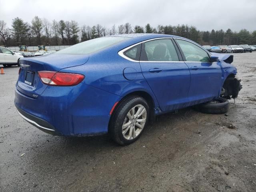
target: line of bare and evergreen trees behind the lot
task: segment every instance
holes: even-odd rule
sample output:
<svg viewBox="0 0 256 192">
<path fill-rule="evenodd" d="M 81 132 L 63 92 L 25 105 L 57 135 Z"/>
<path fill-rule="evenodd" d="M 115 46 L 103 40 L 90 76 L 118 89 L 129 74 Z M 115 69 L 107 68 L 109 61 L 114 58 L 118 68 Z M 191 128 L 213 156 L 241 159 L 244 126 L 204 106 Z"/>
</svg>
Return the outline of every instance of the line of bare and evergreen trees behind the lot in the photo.
<svg viewBox="0 0 256 192">
<path fill-rule="evenodd" d="M 12 27 L 8 28 L 4 20 L 0 20 L 0 44 L 4 46 L 18 45 L 73 45 L 93 38 L 106 35 L 129 34 L 129 33 L 159 33 L 182 36 L 191 39 L 201 45 L 220 44 L 256 44 L 256 30 L 250 32 L 242 29 L 239 32 L 228 29 L 211 31 L 200 31 L 195 26 L 182 25 L 158 25 L 153 27 L 132 26 L 125 23 L 111 28 L 100 24 L 94 26 L 79 26 L 75 20 L 71 21 L 49 21 L 46 18 L 35 16 L 30 23 L 24 22 L 22 18 L 14 18 Z"/>
</svg>

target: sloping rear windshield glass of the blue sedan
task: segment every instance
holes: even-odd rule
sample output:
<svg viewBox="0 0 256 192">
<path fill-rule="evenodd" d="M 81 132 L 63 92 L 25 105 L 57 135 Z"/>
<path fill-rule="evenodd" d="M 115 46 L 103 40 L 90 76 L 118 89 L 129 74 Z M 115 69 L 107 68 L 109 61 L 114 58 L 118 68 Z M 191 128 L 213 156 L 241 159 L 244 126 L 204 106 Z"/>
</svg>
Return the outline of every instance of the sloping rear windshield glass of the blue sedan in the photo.
<svg viewBox="0 0 256 192">
<path fill-rule="evenodd" d="M 62 49 L 56 54 L 90 54 L 127 39 L 128 37 L 96 38 Z"/>
</svg>

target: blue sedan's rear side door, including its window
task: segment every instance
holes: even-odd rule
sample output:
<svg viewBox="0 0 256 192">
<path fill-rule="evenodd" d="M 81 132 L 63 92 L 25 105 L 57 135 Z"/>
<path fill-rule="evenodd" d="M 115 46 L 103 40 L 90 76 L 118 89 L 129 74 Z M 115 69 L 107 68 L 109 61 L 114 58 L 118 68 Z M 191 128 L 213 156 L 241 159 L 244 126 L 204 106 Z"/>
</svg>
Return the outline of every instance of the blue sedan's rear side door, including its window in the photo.
<svg viewBox="0 0 256 192">
<path fill-rule="evenodd" d="M 189 68 L 181 55 L 178 56 L 178 48 L 172 41 L 164 38 L 143 42 L 140 54 L 142 74 L 162 111 L 184 108 L 188 104 Z"/>
</svg>

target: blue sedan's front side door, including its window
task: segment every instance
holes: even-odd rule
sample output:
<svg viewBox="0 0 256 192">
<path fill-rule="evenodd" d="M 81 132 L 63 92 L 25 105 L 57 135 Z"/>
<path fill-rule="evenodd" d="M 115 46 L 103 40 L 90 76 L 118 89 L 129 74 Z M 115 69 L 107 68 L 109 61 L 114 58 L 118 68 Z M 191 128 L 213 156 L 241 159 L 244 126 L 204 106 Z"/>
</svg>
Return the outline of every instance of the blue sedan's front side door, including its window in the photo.
<svg viewBox="0 0 256 192">
<path fill-rule="evenodd" d="M 220 95 L 222 72 L 217 62 L 210 62 L 208 52 L 183 39 L 175 39 L 191 74 L 188 99 L 190 104 L 206 102 Z"/>
</svg>

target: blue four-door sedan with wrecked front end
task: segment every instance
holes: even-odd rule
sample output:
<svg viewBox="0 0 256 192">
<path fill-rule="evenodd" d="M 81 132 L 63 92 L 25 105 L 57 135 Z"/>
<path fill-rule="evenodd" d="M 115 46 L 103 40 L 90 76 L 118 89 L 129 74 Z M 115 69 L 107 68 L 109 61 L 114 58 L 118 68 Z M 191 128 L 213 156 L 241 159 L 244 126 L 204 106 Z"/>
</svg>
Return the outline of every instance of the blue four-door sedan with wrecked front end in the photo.
<svg viewBox="0 0 256 192">
<path fill-rule="evenodd" d="M 159 114 L 236 97 L 232 61 L 232 55 L 210 54 L 178 36 L 96 38 L 20 59 L 14 103 L 46 133 L 109 133 L 118 144 L 130 144 Z"/>
</svg>

